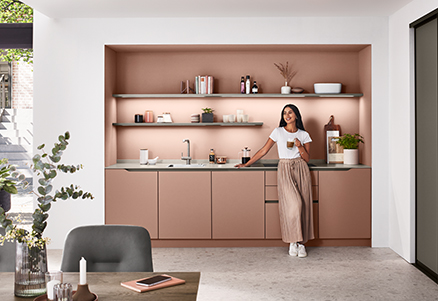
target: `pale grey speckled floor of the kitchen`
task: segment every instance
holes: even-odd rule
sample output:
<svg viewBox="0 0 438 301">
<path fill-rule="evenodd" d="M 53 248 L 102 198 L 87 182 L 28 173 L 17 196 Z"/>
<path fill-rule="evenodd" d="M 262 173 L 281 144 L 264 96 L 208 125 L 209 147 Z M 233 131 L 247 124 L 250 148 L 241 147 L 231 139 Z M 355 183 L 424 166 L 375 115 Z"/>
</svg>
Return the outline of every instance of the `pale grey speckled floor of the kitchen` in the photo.
<svg viewBox="0 0 438 301">
<path fill-rule="evenodd" d="M 49 250 L 59 269 L 61 250 Z M 438 300 L 438 285 L 388 248 L 154 248 L 157 272 L 200 271 L 198 301 Z"/>
</svg>

